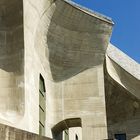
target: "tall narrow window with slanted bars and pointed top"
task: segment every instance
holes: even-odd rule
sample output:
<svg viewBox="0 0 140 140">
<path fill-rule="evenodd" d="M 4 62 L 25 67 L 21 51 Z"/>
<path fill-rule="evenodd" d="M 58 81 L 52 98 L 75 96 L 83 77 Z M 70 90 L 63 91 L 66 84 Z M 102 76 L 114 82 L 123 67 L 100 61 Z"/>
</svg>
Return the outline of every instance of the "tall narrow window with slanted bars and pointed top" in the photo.
<svg viewBox="0 0 140 140">
<path fill-rule="evenodd" d="M 46 117 L 46 105 L 45 105 L 45 82 L 40 75 L 39 78 L 39 134 L 45 135 L 45 117 Z"/>
</svg>

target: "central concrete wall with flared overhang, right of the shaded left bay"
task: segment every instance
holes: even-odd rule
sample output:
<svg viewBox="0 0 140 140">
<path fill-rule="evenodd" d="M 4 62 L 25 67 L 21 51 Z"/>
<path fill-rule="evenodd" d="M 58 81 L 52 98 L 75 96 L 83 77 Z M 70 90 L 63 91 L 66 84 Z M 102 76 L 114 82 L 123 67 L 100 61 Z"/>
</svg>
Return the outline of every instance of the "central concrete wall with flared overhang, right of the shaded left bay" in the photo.
<svg viewBox="0 0 140 140">
<path fill-rule="evenodd" d="M 24 25 L 27 129 L 38 133 L 39 117 L 30 113 L 39 114 L 41 73 L 46 136 L 58 122 L 80 117 L 83 139 L 107 138 L 103 61 L 112 22 L 63 0 L 25 0 Z"/>
</svg>

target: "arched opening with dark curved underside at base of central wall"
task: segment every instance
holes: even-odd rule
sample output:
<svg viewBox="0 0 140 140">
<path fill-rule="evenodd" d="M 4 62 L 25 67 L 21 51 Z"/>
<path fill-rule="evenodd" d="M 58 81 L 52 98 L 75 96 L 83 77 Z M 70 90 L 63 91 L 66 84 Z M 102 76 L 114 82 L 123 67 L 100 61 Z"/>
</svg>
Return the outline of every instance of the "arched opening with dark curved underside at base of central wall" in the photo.
<svg viewBox="0 0 140 140">
<path fill-rule="evenodd" d="M 55 140 L 81 140 L 81 118 L 69 118 L 59 122 L 52 128 L 52 134 Z"/>
</svg>

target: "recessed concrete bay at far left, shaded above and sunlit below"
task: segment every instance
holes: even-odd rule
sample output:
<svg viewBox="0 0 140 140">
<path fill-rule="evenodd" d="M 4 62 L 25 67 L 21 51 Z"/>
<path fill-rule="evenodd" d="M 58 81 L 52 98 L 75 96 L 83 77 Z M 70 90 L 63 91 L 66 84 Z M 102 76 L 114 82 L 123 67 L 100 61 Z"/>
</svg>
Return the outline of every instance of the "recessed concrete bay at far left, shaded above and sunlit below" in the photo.
<svg viewBox="0 0 140 140">
<path fill-rule="evenodd" d="M 0 1 L 0 117 L 24 114 L 24 37 L 22 0 Z M 15 115 L 16 114 L 16 115 Z M 13 115 L 13 116 L 12 116 Z M 17 121 L 17 120 L 16 120 Z"/>
</svg>

